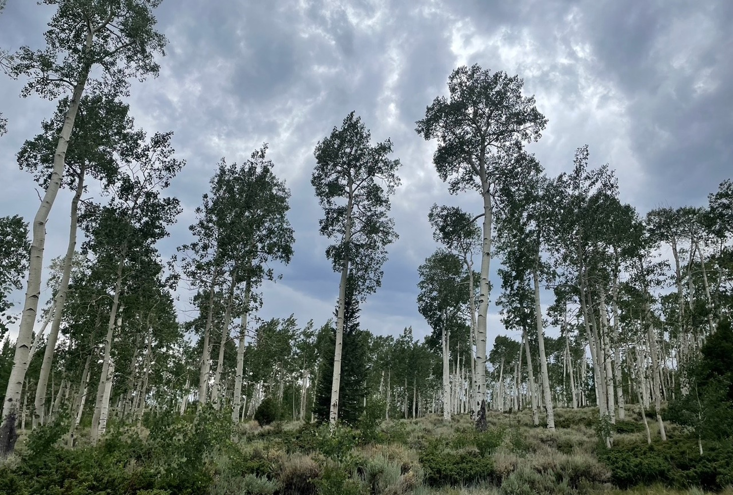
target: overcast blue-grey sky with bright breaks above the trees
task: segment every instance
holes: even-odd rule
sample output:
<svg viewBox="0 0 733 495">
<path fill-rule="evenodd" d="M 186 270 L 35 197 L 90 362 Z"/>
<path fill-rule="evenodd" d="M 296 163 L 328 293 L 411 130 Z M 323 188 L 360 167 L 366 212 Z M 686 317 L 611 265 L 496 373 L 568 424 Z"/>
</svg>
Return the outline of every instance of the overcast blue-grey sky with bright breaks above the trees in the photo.
<svg viewBox="0 0 733 495">
<path fill-rule="evenodd" d="M 0 47 L 42 48 L 52 13 L 8 0 Z M 399 241 L 361 325 L 380 334 L 410 325 L 418 336 L 429 332 L 416 307 L 417 267 L 436 247 L 427 211 L 437 202 L 480 212 L 482 201 L 474 192 L 447 193 L 431 163 L 435 143 L 414 129 L 462 64 L 524 78 L 525 93 L 549 119 L 530 146 L 548 174 L 569 171 L 575 148 L 589 144 L 591 165 L 608 163 L 622 201 L 642 214 L 707 204 L 733 175 L 730 0 L 165 0 L 157 16 L 169 39 L 161 75 L 134 83 L 129 101 L 136 124 L 148 133 L 173 130 L 177 155 L 187 160 L 169 190 L 184 211 L 161 253 L 189 242 L 187 227 L 218 160 L 241 162 L 268 142 L 276 174 L 292 190 L 296 242 L 282 280 L 263 288 L 263 318 L 295 313 L 320 325 L 333 313 L 339 278 L 318 235 L 310 176 L 317 141 L 355 110 L 375 141 L 392 139 L 402 161 L 392 199 Z M 22 86 L 0 77 L 0 111 L 10 121 L 0 138 L 0 215 L 30 220 L 37 186 L 18 170 L 15 153 L 55 103 L 19 98 Z M 65 252 L 69 201 L 70 193 L 59 194 L 51 212 L 46 264 Z M 182 319 L 191 316 L 183 290 L 177 305 Z M 492 304 L 490 342 L 504 332 L 497 313 Z"/>
</svg>

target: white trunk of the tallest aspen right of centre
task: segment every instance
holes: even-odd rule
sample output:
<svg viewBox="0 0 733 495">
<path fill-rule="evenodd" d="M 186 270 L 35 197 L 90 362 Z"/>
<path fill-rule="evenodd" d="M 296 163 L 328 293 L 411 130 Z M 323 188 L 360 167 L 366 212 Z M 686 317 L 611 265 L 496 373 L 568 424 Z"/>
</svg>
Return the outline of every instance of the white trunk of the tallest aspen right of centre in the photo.
<svg viewBox="0 0 733 495">
<path fill-rule="evenodd" d="M 485 151 L 482 151 L 482 196 L 484 198 L 484 225 L 481 252 L 481 278 L 479 281 L 479 314 L 476 319 L 476 397 L 474 407 L 481 408 L 482 400 L 486 398 L 486 341 L 487 316 L 489 312 L 489 269 L 491 262 L 491 228 L 493 220 L 493 204 L 490 185 L 485 171 Z"/>
</svg>

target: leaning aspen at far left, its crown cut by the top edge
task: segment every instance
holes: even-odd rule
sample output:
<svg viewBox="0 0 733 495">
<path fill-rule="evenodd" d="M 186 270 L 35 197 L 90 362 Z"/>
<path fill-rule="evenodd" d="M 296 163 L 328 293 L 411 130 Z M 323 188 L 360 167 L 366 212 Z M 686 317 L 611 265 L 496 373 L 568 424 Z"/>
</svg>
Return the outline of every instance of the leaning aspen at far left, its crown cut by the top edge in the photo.
<svg viewBox="0 0 733 495">
<path fill-rule="evenodd" d="M 43 3 L 58 6 L 44 34 L 47 47 L 39 51 L 21 47 L 12 57 L 10 73 L 29 78 L 23 96 L 37 92 L 55 99 L 70 91 L 71 97 L 54 152 L 51 178 L 33 220 L 26 298 L 3 404 L 3 422 L 20 400 L 28 369 L 40 296 L 46 221 L 61 187 L 68 143 L 90 75 L 110 92 L 124 93 L 129 78 L 158 74 L 155 57 L 163 53 L 166 44 L 165 37 L 155 31 L 152 15 L 161 0 L 43 0 Z M 100 69 L 103 74 L 99 81 L 93 79 L 94 69 Z"/>
</svg>

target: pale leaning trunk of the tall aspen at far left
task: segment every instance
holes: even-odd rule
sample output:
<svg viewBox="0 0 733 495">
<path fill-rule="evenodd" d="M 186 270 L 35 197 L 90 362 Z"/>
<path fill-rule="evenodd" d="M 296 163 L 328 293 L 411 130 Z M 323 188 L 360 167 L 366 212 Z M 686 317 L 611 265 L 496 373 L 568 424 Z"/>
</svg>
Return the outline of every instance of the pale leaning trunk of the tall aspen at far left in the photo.
<svg viewBox="0 0 733 495">
<path fill-rule="evenodd" d="M 91 30 L 86 36 L 86 45 L 84 55 L 92 48 L 94 40 L 94 32 Z M 38 299 L 41 292 L 41 271 L 43 270 L 43 250 L 45 247 L 45 231 L 48 215 L 56 201 L 56 195 L 61 187 L 62 177 L 64 176 L 66 150 L 69 146 L 69 138 L 74 128 L 74 119 L 79 109 L 81 95 L 84 94 L 84 86 L 86 86 L 86 78 L 89 75 L 91 67 L 85 64 L 81 70 L 81 77 L 74 86 L 73 94 L 64 117 L 64 126 L 59 134 L 59 142 L 56 144 L 56 152 L 54 153 L 54 168 L 51 171 L 51 179 L 48 181 L 43 199 L 41 200 L 38 210 L 33 219 L 33 241 L 28 264 L 28 281 L 26 283 L 26 297 L 23 302 L 23 313 L 21 315 L 21 324 L 18 329 L 18 340 L 15 341 L 15 355 L 12 360 L 12 368 L 10 377 L 7 382 L 7 390 L 5 392 L 5 401 L 2 408 L 3 425 L 11 412 L 17 412 L 18 403 L 21 400 L 21 392 L 23 392 L 23 380 L 26 377 L 28 366 L 30 364 L 29 354 L 31 340 L 33 337 L 33 327 L 36 321 L 38 310 Z M 0 431 L 6 431 L 6 428 L 0 428 Z M 9 429 L 7 431 L 10 431 Z M 15 448 L 15 442 L 10 444 L 7 453 L 12 453 Z"/>
</svg>

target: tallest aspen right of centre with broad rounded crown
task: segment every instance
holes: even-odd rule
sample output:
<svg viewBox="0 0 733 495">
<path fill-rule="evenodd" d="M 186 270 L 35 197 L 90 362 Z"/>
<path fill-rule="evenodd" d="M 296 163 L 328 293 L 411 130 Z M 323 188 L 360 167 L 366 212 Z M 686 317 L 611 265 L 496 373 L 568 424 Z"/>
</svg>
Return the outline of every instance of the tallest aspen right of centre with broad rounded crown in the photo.
<svg viewBox="0 0 733 495">
<path fill-rule="evenodd" d="M 496 176 L 523 142 L 537 141 L 547 119 L 537 111 L 534 97 L 522 95 L 523 80 L 479 65 L 459 67 L 448 79 L 450 96 L 437 97 L 416 132 L 438 139 L 433 163 L 449 191 L 476 190 L 483 201 L 483 242 L 476 319 L 476 397 L 486 397 L 486 343 L 489 269 Z"/>
</svg>

